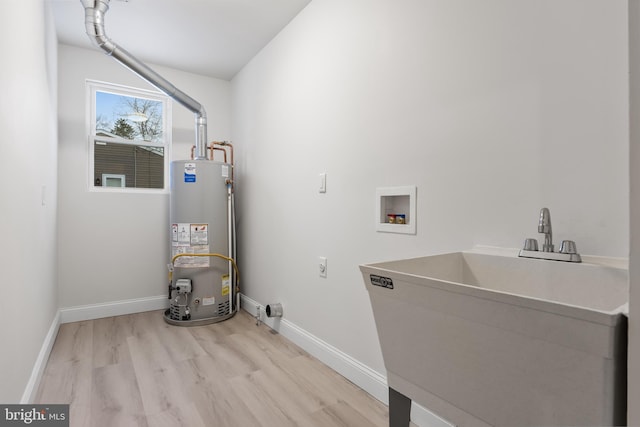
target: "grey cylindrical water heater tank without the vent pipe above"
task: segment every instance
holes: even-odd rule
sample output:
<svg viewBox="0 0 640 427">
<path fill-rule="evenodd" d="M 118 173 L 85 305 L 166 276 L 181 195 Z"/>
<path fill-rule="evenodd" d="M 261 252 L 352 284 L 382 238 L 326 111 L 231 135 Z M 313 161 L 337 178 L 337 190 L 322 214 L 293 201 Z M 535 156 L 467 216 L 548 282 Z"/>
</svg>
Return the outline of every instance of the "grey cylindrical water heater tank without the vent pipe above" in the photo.
<svg viewBox="0 0 640 427">
<path fill-rule="evenodd" d="M 235 313 L 232 168 L 213 160 L 171 163 L 170 324 L 214 323 Z"/>
</svg>

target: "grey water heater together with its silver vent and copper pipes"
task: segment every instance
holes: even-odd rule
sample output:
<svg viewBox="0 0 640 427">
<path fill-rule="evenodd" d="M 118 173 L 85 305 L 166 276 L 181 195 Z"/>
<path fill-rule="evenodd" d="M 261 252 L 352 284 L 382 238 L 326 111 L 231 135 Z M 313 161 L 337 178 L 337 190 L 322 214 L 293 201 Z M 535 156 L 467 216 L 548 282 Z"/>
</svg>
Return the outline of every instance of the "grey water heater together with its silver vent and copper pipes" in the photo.
<svg viewBox="0 0 640 427">
<path fill-rule="evenodd" d="M 110 0 L 81 0 L 85 29 L 107 55 L 195 114 L 196 145 L 192 160 L 171 164 L 169 263 L 170 307 L 164 318 L 174 325 L 214 323 L 233 316 L 239 304 L 235 264 L 233 147 L 207 144 L 207 115 L 198 101 L 176 88 L 126 49 L 107 37 L 104 15 Z M 227 148 L 231 162 L 227 163 Z M 211 156 L 207 159 L 208 150 Z M 213 160 L 215 150 L 225 161 Z"/>
</svg>

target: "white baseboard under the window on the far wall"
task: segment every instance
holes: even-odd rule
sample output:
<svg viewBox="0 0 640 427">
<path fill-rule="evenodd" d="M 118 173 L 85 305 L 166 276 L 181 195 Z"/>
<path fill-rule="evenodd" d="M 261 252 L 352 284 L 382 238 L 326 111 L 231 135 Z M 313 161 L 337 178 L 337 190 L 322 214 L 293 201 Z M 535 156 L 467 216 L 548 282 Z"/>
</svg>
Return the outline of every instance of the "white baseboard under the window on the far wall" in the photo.
<svg viewBox="0 0 640 427">
<path fill-rule="evenodd" d="M 122 316 L 144 311 L 162 310 L 169 307 L 166 295 L 113 301 L 102 304 L 81 305 L 60 309 L 60 323 L 80 322 L 103 317 Z"/>
</svg>

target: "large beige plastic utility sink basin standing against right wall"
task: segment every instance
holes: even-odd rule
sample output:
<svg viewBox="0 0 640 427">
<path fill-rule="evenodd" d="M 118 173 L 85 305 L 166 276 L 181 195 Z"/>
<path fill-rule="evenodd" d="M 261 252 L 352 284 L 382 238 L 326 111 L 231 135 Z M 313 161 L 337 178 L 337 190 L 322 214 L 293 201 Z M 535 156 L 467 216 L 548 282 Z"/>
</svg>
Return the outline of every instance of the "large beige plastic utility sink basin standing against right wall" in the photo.
<svg viewBox="0 0 640 427">
<path fill-rule="evenodd" d="M 413 400 L 459 426 L 624 424 L 619 264 L 473 250 L 361 265 L 392 420 Z"/>
</svg>

